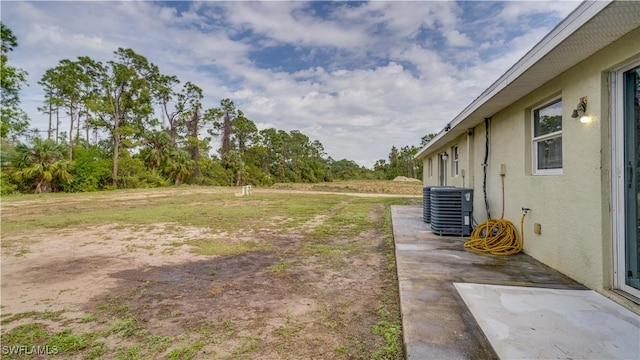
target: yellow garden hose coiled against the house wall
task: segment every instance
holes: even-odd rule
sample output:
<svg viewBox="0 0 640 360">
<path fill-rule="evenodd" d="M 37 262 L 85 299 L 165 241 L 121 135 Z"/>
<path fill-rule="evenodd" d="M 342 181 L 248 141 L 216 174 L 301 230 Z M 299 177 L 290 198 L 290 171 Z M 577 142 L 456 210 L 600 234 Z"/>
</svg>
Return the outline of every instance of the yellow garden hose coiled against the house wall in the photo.
<svg viewBox="0 0 640 360">
<path fill-rule="evenodd" d="M 520 229 L 524 229 L 524 217 L 527 215 L 527 211 L 529 209 L 522 209 Z M 471 239 L 464 243 L 464 247 L 493 255 L 513 255 L 522 251 L 524 231 L 522 241 L 518 237 L 518 230 L 511 221 L 489 219 L 473 230 Z"/>
</svg>

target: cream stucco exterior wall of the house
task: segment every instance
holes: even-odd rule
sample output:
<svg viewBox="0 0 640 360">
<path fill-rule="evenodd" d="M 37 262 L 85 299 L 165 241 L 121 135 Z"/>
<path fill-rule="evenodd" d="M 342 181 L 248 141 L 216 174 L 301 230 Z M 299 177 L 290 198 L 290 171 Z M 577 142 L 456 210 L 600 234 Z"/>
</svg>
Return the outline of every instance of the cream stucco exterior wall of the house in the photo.
<svg viewBox="0 0 640 360">
<path fill-rule="evenodd" d="M 640 57 L 640 29 L 628 33 L 585 61 L 530 92 L 493 115 L 489 124 L 486 189 L 492 218 L 511 220 L 520 228 L 522 208 L 524 251 L 592 289 L 608 289 L 613 277 L 611 204 L 611 119 L 609 72 Z M 571 118 L 579 99 L 588 97 L 587 124 Z M 532 171 L 533 110 L 562 99 L 562 158 L 560 175 Z M 488 218 L 485 206 L 485 125 L 434 149 L 434 175 L 425 171 L 425 186 L 438 185 L 438 156 L 456 144 L 465 187 L 474 189 L 474 218 Z M 451 161 L 451 157 L 447 162 Z M 504 176 L 504 209 L 501 165 Z M 447 176 L 447 185 L 463 186 L 462 177 Z M 541 233 L 534 233 L 534 224 Z"/>
</svg>

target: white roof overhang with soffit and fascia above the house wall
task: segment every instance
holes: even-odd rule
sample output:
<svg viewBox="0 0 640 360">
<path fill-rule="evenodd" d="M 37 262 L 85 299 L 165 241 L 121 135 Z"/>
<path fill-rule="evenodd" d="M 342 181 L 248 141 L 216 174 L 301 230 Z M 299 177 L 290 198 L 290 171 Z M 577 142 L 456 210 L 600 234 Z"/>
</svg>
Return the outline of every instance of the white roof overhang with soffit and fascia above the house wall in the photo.
<svg viewBox="0 0 640 360">
<path fill-rule="evenodd" d="M 597 2 L 585 2 L 575 12 L 592 3 Z M 558 26 L 562 26 L 563 23 Z M 449 131 L 442 130 L 416 155 L 416 158 L 428 155 L 446 142 L 466 133 L 467 129 L 482 123 L 484 118 L 493 116 L 639 26 L 640 2 L 614 1 L 609 3 L 566 36 L 563 41 L 548 50 L 539 60 L 521 71 L 519 75 L 510 74 L 517 72 L 514 71 L 515 66 L 509 69 L 460 115 L 449 122 Z M 543 47 L 543 42 L 544 39 L 531 52 L 534 52 L 538 47 Z M 526 59 L 523 58 L 520 62 L 523 60 Z M 513 78 L 510 78 L 510 75 Z M 494 94 L 491 94 L 492 89 Z M 469 111 L 474 106 L 475 109 Z"/>
</svg>

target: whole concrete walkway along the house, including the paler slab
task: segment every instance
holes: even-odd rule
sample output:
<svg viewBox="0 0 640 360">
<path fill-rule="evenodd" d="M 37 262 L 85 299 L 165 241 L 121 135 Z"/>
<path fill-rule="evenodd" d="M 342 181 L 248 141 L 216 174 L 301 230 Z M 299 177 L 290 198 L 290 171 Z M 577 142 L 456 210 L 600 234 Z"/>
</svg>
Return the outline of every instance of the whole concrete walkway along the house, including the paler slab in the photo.
<svg viewBox="0 0 640 360">
<path fill-rule="evenodd" d="M 407 359 L 640 359 L 640 316 L 526 254 L 438 236 L 392 206 Z"/>
</svg>

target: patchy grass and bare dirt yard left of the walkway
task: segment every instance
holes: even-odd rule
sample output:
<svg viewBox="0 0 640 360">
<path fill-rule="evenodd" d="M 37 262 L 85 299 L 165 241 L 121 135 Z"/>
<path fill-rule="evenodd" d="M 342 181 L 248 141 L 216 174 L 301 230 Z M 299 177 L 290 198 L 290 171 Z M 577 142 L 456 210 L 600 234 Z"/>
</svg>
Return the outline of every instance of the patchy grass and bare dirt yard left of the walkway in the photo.
<svg viewBox="0 0 640 360">
<path fill-rule="evenodd" d="M 421 185 L 329 185 L 3 198 L 2 358 L 403 358 L 389 205 L 420 199 L 371 194 Z"/>
</svg>

